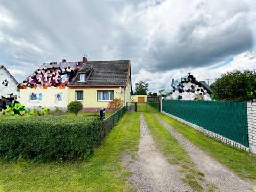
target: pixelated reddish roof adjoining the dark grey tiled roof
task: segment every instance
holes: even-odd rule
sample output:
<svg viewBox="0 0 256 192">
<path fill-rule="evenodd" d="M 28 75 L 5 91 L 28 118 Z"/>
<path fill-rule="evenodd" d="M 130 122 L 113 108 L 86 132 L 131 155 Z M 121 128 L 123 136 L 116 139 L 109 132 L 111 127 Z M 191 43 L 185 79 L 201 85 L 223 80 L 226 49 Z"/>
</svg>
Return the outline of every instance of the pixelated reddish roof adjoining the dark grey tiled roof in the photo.
<svg viewBox="0 0 256 192">
<path fill-rule="evenodd" d="M 52 62 L 44 63 L 18 85 L 19 89 L 27 87 L 67 86 L 76 75 L 82 62 Z"/>
</svg>

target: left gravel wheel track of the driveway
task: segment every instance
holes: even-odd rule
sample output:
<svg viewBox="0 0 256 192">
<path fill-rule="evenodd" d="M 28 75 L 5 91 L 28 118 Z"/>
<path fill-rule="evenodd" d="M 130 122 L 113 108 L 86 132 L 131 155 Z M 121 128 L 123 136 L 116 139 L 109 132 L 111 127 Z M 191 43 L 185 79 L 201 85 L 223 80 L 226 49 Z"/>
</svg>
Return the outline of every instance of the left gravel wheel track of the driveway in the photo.
<svg viewBox="0 0 256 192">
<path fill-rule="evenodd" d="M 130 179 L 136 191 L 192 191 L 180 180 L 177 165 L 170 165 L 156 149 L 143 115 L 140 115 L 140 145 L 136 161 L 130 164 Z"/>
</svg>

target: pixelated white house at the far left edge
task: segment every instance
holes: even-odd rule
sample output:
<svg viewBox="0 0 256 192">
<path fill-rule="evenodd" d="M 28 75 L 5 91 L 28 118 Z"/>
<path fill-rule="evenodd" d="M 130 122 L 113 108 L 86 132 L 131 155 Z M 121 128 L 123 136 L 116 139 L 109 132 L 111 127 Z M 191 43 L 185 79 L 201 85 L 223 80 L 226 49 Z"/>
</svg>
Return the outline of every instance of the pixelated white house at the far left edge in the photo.
<svg viewBox="0 0 256 192">
<path fill-rule="evenodd" d="M 18 82 L 9 71 L 0 65 L 0 111 L 6 109 L 6 105 L 16 100 L 17 84 Z"/>
</svg>

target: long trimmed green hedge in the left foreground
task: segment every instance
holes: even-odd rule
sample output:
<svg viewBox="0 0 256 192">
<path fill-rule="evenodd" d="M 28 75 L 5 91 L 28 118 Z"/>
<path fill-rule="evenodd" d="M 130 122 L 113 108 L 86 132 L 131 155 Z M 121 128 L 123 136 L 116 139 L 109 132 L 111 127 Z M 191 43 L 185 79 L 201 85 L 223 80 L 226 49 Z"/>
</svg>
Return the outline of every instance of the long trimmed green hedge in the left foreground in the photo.
<svg viewBox="0 0 256 192">
<path fill-rule="evenodd" d="M 89 155 L 101 141 L 99 117 L 41 116 L 0 122 L 5 159 L 73 159 Z"/>
</svg>

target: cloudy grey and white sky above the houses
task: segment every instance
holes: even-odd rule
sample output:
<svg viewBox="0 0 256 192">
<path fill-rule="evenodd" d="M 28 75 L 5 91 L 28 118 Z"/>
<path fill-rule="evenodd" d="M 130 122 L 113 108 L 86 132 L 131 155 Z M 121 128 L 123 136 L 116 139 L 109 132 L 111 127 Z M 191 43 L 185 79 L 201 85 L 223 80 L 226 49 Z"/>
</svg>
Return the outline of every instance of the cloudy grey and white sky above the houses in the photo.
<svg viewBox="0 0 256 192">
<path fill-rule="evenodd" d="M 44 62 L 131 60 L 133 89 L 256 68 L 255 0 L 0 0 L 0 65 L 21 82 Z"/>
</svg>

